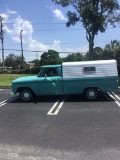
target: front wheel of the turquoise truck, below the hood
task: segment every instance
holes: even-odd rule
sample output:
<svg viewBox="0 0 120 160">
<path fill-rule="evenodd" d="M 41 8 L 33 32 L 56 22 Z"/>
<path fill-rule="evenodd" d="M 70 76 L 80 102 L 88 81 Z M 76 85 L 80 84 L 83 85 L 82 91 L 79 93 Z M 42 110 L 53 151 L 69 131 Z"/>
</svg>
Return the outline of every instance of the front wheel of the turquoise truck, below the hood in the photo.
<svg viewBox="0 0 120 160">
<path fill-rule="evenodd" d="M 24 102 L 32 100 L 33 96 L 33 92 L 30 89 L 24 89 L 20 92 L 20 98 Z"/>
</svg>

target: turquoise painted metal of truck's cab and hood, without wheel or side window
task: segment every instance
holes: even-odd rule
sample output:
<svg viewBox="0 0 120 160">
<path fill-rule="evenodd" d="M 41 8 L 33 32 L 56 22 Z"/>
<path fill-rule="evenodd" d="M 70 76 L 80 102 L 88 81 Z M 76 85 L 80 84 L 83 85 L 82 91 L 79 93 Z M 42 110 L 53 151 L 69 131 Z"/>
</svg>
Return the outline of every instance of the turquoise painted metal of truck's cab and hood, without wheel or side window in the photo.
<svg viewBox="0 0 120 160">
<path fill-rule="evenodd" d="M 59 95 L 62 94 L 62 77 L 61 77 L 61 66 L 54 65 L 56 67 L 58 75 L 60 76 L 51 76 L 43 77 L 42 68 L 38 76 L 25 76 L 20 77 L 12 81 L 12 91 L 17 92 L 17 89 L 23 87 L 29 87 L 33 90 L 36 95 Z M 50 67 L 51 68 L 51 67 Z"/>
</svg>

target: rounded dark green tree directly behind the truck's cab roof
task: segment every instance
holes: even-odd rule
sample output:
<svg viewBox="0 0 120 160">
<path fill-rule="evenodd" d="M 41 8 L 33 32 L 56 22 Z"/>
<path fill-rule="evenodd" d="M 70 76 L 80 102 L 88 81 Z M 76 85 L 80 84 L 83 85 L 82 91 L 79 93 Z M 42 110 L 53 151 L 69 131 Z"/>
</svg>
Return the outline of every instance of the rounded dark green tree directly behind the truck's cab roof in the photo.
<svg viewBox="0 0 120 160">
<path fill-rule="evenodd" d="M 54 50 L 48 50 L 41 55 L 40 65 L 60 64 L 62 62 L 59 53 Z"/>
</svg>

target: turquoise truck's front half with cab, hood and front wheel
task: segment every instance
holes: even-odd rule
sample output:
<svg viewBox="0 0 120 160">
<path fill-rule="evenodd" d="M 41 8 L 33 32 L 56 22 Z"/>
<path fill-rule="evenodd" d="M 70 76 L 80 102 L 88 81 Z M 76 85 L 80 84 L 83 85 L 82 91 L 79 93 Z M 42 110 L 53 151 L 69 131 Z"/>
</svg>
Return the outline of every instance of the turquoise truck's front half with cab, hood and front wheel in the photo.
<svg viewBox="0 0 120 160">
<path fill-rule="evenodd" d="M 23 101 L 29 101 L 35 95 L 62 94 L 61 65 L 43 66 L 37 76 L 25 76 L 13 80 L 12 93 L 18 93 Z"/>
</svg>

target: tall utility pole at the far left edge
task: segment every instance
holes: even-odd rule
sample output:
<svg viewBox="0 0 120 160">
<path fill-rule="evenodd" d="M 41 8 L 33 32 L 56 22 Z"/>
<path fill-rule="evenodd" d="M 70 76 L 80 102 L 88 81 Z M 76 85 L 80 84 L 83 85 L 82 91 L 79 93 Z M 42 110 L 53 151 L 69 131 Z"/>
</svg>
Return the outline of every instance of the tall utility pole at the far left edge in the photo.
<svg viewBox="0 0 120 160">
<path fill-rule="evenodd" d="M 0 39 L 1 39 L 1 42 L 2 42 L 2 61 L 3 61 L 3 70 L 5 69 L 5 65 L 4 65 L 4 43 L 3 43 L 3 18 L 0 16 Z"/>
</svg>

